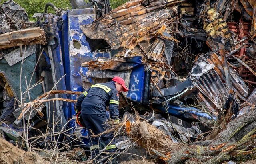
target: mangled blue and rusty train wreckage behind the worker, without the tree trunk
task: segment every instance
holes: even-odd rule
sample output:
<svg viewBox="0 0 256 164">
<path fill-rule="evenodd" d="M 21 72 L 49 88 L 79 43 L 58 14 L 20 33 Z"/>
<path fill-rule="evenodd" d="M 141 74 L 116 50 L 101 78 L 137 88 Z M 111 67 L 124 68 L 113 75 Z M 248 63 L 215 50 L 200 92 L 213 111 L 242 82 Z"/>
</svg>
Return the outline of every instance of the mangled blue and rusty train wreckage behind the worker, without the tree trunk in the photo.
<svg viewBox="0 0 256 164">
<path fill-rule="evenodd" d="M 25 119 L 65 131 L 58 140 L 67 144 L 82 133 L 87 145 L 74 121 L 76 96 L 114 76 L 130 89 L 120 95 L 120 117 L 135 108 L 170 137 L 166 126 L 176 123 L 185 142 L 183 134 L 193 141 L 226 110 L 236 117 L 241 107 L 255 108 L 255 3 L 131 0 L 114 10 L 102 3 L 71 1 L 74 9 L 55 7 L 55 14 L 46 7 L 34 14 L 36 23 L 24 10 L 15 15 L 12 0 L 1 6 L 0 118 L 10 124 L 0 129 L 9 137 L 22 135 Z"/>
</svg>

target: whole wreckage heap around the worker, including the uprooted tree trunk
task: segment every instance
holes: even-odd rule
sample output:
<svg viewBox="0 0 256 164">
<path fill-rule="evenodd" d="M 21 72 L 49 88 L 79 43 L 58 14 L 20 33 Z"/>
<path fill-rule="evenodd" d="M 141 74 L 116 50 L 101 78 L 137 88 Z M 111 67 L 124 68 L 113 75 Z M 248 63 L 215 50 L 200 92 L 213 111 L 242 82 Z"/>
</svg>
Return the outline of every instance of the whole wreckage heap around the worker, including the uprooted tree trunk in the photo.
<svg viewBox="0 0 256 164">
<path fill-rule="evenodd" d="M 0 6 L 5 139 L 51 159 L 77 146 L 88 155 L 76 97 L 120 76 L 130 90 L 120 94 L 123 122 L 112 130 L 123 131 L 118 151 L 136 154 L 121 161 L 256 158 L 255 0 L 130 0 L 114 10 L 78 2 L 54 6 L 56 15 L 46 7 L 35 23 L 12 0 Z"/>
</svg>

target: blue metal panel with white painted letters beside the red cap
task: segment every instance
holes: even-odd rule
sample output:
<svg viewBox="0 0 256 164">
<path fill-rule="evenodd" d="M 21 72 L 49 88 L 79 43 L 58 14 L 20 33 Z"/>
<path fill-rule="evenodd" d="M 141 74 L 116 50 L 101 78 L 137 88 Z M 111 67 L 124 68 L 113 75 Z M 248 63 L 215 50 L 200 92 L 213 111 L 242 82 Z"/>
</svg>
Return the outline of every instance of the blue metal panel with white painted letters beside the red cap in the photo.
<svg viewBox="0 0 256 164">
<path fill-rule="evenodd" d="M 136 61 L 136 59 L 134 59 Z M 142 103 L 142 96 L 144 93 L 144 64 L 140 64 L 132 69 L 130 77 L 129 91 L 126 98 Z"/>
</svg>

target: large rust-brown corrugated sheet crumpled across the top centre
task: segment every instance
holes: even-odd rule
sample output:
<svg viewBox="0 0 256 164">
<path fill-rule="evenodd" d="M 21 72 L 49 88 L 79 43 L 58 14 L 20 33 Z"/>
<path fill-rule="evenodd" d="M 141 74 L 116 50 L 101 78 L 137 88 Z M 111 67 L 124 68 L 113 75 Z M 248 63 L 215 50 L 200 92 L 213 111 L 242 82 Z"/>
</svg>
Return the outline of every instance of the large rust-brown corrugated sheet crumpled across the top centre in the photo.
<svg viewBox="0 0 256 164">
<path fill-rule="evenodd" d="M 168 23 L 173 8 L 158 10 L 168 5 L 164 0 L 132 0 L 102 16 L 89 25 L 82 25 L 84 34 L 91 39 L 104 39 L 113 48 L 127 47 L 134 49 L 136 41 Z M 172 1 L 173 2 L 173 1 Z"/>
</svg>

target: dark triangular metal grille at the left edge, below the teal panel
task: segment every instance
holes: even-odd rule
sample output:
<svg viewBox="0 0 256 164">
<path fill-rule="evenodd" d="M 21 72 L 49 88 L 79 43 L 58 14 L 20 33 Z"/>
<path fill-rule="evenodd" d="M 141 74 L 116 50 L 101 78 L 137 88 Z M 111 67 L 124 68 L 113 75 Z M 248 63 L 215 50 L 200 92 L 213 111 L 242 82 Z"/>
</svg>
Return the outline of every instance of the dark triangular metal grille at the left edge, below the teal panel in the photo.
<svg viewBox="0 0 256 164">
<path fill-rule="evenodd" d="M 8 122 L 13 122 L 15 121 L 15 117 L 12 114 L 15 108 L 18 107 L 18 103 L 15 101 L 15 98 L 12 97 L 6 108 L 4 109 L 0 119 Z"/>
</svg>

